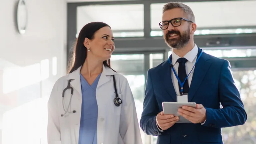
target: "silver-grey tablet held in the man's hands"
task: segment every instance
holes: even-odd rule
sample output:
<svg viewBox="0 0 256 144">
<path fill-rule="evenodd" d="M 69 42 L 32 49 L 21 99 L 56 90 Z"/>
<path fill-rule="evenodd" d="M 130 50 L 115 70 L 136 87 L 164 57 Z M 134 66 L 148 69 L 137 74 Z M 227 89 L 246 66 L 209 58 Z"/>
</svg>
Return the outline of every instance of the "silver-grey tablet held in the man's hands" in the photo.
<svg viewBox="0 0 256 144">
<path fill-rule="evenodd" d="M 188 103 L 162 102 L 164 114 L 172 114 L 180 118 L 180 120 L 177 121 L 176 123 L 191 123 L 189 120 L 185 119 L 184 117 L 178 114 L 178 108 L 181 108 L 182 106 L 191 106 L 195 108 L 196 103 L 195 102 L 188 102 Z"/>
</svg>

